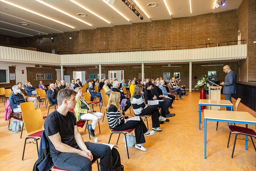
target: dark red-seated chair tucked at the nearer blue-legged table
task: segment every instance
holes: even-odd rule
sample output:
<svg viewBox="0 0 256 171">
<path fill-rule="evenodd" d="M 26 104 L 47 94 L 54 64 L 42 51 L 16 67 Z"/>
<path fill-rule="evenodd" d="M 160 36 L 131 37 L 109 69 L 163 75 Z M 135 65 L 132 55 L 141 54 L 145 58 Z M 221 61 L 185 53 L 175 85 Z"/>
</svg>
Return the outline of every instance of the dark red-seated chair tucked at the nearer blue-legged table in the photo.
<svg viewBox="0 0 256 171">
<path fill-rule="evenodd" d="M 255 148 L 255 145 L 254 145 L 254 141 L 252 140 L 252 137 L 254 137 L 256 139 L 256 132 L 254 130 L 252 130 L 250 128 L 244 128 L 244 127 L 240 127 L 240 126 L 235 126 L 235 125 L 229 125 L 228 128 L 230 130 L 229 138 L 228 138 L 228 145 L 229 145 L 229 140 L 230 140 L 231 133 L 235 133 L 236 134 L 235 142 L 234 142 L 234 147 L 233 147 L 233 151 L 232 151 L 232 156 L 231 156 L 232 159 L 233 159 L 233 155 L 234 155 L 236 139 L 239 139 L 239 138 L 237 138 L 237 135 L 239 135 L 239 134 L 250 136 L 251 137 L 251 142 L 252 142 L 253 147 L 254 147 L 254 150 L 256 151 L 256 148 Z M 248 141 L 250 141 L 250 140 L 248 140 Z M 256 166 L 256 162 L 255 162 L 255 166 Z"/>
</svg>

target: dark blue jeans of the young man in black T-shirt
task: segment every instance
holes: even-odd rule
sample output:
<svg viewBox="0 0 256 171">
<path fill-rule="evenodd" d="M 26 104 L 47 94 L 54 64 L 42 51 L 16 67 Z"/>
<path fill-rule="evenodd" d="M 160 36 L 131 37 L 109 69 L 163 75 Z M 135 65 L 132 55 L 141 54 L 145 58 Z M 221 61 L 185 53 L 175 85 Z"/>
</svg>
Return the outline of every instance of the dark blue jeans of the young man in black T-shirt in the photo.
<svg viewBox="0 0 256 171">
<path fill-rule="evenodd" d="M 85 142 L 88 150 L 91 151 L 93 158 L 100 158 L 100 170 L 111 171 L 111 149 L 107 145 Z M 79 146 L 74 147 L 79 149 Z M 92 163 L 87 157 L 76 153 L 57 152 L 52 158 L 53 164 L 60 168 L 72 171 L 91 171 Z"/>
</svg>

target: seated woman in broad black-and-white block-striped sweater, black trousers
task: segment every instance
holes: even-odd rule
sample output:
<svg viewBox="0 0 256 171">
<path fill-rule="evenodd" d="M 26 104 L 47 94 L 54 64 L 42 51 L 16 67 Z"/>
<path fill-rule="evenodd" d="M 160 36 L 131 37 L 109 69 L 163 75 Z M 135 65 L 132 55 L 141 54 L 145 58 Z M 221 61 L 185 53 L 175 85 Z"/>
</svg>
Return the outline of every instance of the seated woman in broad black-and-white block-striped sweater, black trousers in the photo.
<svg viewBox="0 0 256 171">
<path fill-rule="evenodd" d="M 145 105 L 141 97 L 142 90 L 143 90 L 143 87 L 142 85 L 139 85 L 139 84 L 136 85 L 134 88 L 134 93 L 131 98 L 133 112 L 135 113 L 135 115 L 139 115 L 139 116 L 151 114 L 152 129 L 154 131 L 160 132 L 162 130 L 159 128 L 160 126 L 159 119 L 158 119 L 160 117 L 159 110 L 157 106 L 150 106 L 149 104 Z"/>
</svg>

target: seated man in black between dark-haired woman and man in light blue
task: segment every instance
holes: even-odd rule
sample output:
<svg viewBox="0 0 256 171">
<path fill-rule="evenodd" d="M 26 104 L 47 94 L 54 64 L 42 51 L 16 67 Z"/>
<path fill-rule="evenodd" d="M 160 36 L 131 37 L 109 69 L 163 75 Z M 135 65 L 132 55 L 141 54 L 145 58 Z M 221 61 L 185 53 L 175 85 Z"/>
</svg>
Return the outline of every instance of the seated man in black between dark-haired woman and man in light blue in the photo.
<svg viewBox="0 0 256 171">
<path fill-rule="evenodd" d="M 158 81 L 157 79 L 155 80 L 154 83 L 155 83 L 155 86 L 154 86 L 154 88 L 153 88 L 153 90 L 152 90 L 152 94 L 153 94 L 154 96 L 156 96 L 156 99 L 157 99 L 157 100 L 164 100 L 163 102 L 165 102 L 166 107 L 169 108 L 169 106 L 170 106 L 170 104 L 171 104 L 171 100 L 167 99 L 167 98 L 163 95 L 162 90 L 159 88 L 160 83 L 159 83 L 159 81 Z M 166 115 L 167 118 L 168 118 L 168 117 L 173 117 L 173 116 L 175 116 L 174 113 L 170 113 L 170 114 Z"/>
</svg>

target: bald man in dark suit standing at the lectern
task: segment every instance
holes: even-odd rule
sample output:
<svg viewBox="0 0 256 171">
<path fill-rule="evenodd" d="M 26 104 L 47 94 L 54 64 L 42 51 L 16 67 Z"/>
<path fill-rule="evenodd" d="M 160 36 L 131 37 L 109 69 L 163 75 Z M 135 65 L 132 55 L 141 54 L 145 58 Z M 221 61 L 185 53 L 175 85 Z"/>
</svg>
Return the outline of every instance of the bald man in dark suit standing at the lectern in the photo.
<svg viewBox="0 0 256 171">
<path fill-rule="evenodd" d="M 223 93 L 225 94 L 225 99 L 232 103 L 231 96 L 236 93 L 236 73 L 230 69 L 229 65 L 223 67 L 223 71 L 227 73 L 225 77 L 225 82 L 220 83 L 223 85 Z M 227 107 L 227 110 L 231 110 L 231 107 Z"/>
</svg>

